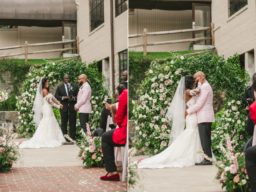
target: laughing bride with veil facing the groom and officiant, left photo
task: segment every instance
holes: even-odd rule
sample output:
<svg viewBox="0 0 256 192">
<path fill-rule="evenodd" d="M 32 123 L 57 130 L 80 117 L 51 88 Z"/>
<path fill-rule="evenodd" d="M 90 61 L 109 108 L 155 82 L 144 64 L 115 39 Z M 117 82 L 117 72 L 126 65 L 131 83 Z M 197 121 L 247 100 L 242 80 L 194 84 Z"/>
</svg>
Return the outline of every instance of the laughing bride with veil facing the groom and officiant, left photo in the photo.
<svg viewBox="0 0 256 192">
<path fill-rule="evenodd" d="M 19 148 L 60 147 L 62 143 L 66 143 L 52 110 L 52 106 L 62 108 L 63 105 L 60 105 L 58 100 L 50 93 L 49 84 L 46 77 L 39 82 L 32 109 L 35 111 L 36 132 L 31 139 L 22 142 Z"/>
</svg>

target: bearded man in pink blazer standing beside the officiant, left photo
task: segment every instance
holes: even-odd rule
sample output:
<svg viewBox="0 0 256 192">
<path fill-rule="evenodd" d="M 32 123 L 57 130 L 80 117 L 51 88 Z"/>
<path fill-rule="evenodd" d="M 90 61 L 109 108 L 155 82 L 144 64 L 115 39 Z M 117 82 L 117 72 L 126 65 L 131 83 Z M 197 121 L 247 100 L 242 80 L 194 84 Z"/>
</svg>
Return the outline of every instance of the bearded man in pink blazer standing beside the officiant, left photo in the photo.
<svg viewBox="0 0 256 192">
<path fill-rule="evenodd" d="M 81 128 L 86 132 L 86 123 L 89 123 L 89 115 L 92 113 L 91 107 L 91 94 L 92 90 L 87 82 L 87 76 L 82 74 L 78 77 L 78 83 L 80 85 L 80 91 L 77 94 L 77 103 L 75 110 L 79 113 L 79 121 Z"/>
</svg>

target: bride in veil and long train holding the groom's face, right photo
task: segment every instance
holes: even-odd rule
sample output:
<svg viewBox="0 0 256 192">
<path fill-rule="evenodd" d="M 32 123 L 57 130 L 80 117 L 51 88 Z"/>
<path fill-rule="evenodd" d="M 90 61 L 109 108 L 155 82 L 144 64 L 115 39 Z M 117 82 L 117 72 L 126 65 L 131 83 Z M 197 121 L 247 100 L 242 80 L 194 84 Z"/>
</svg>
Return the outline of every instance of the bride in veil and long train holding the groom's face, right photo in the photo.
<svg viewBox="0 0 256 192">
<path fill-rule="evenodd" d="M 188 107 L 196 104 L 195 95 L 200 93 L 204 82 L 205 78 L 200 79 L 196 89 L 192 90 L 196 85 L 193 76 L 187 75 L 180 79 L 171 105 L 165 115 L 172 127 L 168 148 L 155 156 L 142 160 L 138 164 L 138 169 L 188 167 L 204 159 L 203 156 L 197 154 L 198 150 L 202 150 L 202 146 L 196 113 L 188 115 L 186 120 L 184 118 L 186 104 Z M 186 129 L 184 130 L 185 121 Z"/>
</svg>

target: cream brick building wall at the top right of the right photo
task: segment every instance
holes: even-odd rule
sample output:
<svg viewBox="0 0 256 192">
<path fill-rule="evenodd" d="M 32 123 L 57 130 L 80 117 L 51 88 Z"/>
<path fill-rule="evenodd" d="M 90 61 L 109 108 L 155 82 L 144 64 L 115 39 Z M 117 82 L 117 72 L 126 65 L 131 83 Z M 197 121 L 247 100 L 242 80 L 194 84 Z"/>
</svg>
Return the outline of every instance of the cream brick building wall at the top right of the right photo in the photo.
<svg viewBox="0 0 256 192">
<path fill-rule="evenodd" d="M 212 22 L 214 24 L 214 42 L 218 54 L 228 57 L 235 53 L 243 54 L 256 51 L 256 4 L 248 0 L 248 5 L 228 18 L 228 2 L 212 0 Z M 256 54 L 254 54 L 254 62 Z M 248 63 L 245 63 L 245 66 Z M 254 64 L 255 66 L 255 64 Z M 256 69 L 249 71 L 252 75 Z"/>
</svg>

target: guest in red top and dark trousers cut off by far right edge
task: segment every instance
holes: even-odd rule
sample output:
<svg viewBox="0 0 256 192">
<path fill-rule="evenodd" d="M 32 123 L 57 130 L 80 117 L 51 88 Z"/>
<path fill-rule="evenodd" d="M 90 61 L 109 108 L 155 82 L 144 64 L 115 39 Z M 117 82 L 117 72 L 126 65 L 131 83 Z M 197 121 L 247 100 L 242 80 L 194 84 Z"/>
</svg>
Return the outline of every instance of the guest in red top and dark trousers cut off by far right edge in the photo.
<svg viewBox="0 0 256 192">
<path fill-rule="evenodd" d="M 256 81 L 253 81 L 252 89 L 256 91 Z M 253 92 L 254 92 L 253 91 Z M 256 102 L 253 102 L 250 105 L 251 119 L 254 124 L 256 124 Z M 253 135 L 254 127 L 246 127 L 246 132 L 250 135 Z M 256 138 L 253 138 L 255 140 Z M 250 188 L 252 192 L 256 192 L 256 145 L 248 147 L 245 150 L 245 166 L 248 173 Z"/>
</svg>

